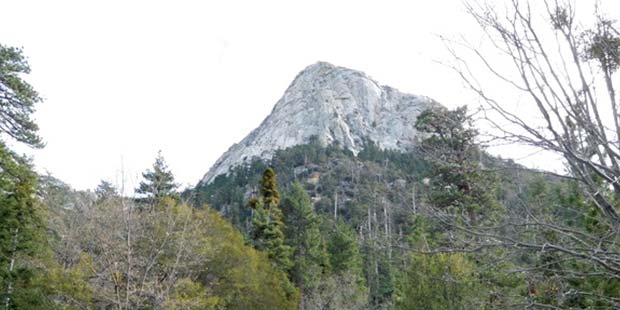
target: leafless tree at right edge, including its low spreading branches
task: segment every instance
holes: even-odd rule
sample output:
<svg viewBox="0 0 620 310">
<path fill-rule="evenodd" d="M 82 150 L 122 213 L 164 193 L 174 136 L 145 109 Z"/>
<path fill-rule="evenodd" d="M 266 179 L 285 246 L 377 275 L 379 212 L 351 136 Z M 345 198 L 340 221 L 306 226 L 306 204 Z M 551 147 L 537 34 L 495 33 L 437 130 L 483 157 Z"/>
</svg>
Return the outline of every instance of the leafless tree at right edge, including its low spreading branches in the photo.
<svg viewBox="0 0 620 310">
<path fill-rule="evenodd" d="M 453 248 L 440 250 L 502 248 L 513 257 L 522 252 L 556 255 L 555 262 L 570 261 L 575 267 L 561 270 L 556 265 L 525 264 L 512 271 L 532 275 L 549 271 L 558 279 L 619 279 L 620 103 L 616 73 L 620 68 L 620 32 L 598 5 L 588 21 L 578 18 L 581 15 L 569 1 L 493 4 L 466 3 L 484 39 L 482 44 L 466 38 L 445 39 L 454 59 L 450 66 L 481 99 L 493 139 L 560 155 L 567 167 L 563 177 L 576 180 L 576 190 L 585 197 L 579 206 L 517 200 L 505 218 L 486 226 L 457 221 L 453 214 L 427 206 L 429 215 L 463 233 L 451 236 Z M 501 93 L 494 89 L 497 87 Z M 594 207 L 594 214 L 585 214 L 588 205 Z M 557 210 L 563 210 L 562 214 Z M 596 229 L 567 221 L 570 217 L 589 217 L 596 221 Z M 560 291 L 561 298 L 590 296 L 620 305 L 618 296 L 599 291 Z"/>
</svg>

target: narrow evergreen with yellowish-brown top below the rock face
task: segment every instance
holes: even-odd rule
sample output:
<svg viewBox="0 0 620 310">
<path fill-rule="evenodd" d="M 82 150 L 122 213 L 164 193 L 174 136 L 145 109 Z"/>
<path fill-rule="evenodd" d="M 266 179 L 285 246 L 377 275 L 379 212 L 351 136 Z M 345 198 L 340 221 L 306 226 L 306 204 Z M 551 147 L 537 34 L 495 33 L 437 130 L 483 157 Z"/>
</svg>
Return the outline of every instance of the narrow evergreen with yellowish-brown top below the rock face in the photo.
<svg viewBox="0 0 620 310">
<path fill-rule="evenodd" d="M 276 186 L 276 174 L 272 168 L 267 168 L 260 182 L 261 199 L 253 200 L 252 238 L 256 248 L 264 250 L 282 270 L 291 266 L 291 248 L 284 243 L 284 222 L 280 194 Z"/>
</svg>

